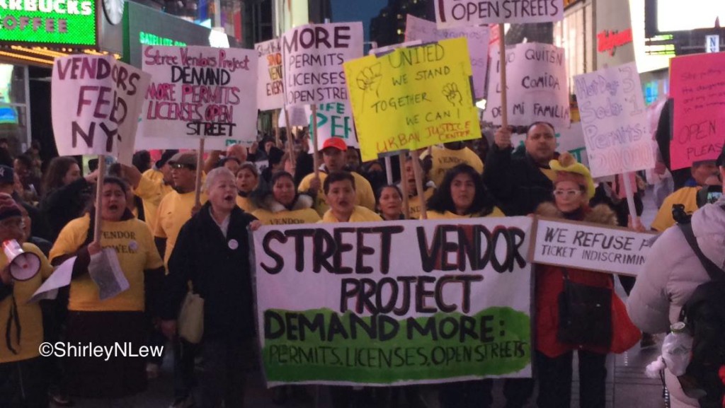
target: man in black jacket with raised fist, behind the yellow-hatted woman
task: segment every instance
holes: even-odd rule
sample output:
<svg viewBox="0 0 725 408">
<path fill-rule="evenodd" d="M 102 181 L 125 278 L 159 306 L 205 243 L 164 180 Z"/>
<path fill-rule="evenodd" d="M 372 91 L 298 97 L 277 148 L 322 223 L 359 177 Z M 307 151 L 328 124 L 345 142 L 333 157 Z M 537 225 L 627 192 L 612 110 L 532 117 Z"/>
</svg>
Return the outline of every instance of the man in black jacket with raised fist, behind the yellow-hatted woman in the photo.
<svg viewBox="0 0 725 408">
<path fill-rule="evenodd" d="M 552 125 L 534 122 L 523 146 L 511 146 L 511 129 L 499 128 L 486 157 L 484 183 L 506 215 L 529 215 L 551 201 L 555 172 L 549 162 L 558 157 Z M 518 405 L 517 405 L 518 406 Z"/>
</svg>

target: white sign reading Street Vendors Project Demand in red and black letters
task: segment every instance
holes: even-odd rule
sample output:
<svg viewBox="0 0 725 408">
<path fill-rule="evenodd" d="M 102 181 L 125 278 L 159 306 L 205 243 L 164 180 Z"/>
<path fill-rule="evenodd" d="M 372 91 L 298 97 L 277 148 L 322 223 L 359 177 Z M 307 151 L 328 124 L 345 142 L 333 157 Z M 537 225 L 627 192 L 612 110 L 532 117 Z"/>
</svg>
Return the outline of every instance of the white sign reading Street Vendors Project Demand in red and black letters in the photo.
<svg viewBox="0 0 725 408">
<path fill-rule="evenodd" d="M 143 67 L 152 83 L 139 137 L 255 141 L 257 51 L 145 46 Z"/>
</svg>

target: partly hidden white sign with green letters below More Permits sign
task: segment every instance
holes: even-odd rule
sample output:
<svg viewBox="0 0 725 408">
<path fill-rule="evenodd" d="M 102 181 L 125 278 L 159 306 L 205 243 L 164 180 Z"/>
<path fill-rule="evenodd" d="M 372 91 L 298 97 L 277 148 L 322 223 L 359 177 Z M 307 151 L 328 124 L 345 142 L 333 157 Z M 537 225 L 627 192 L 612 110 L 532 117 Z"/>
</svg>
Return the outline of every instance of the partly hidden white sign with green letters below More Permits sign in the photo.
<svg viewBox="0 0 725 408">
<path fill-rule="evenodd" d="M 312 109 L 307 106 L 305 112 L 310 117 L 312 123 Z M 352 123 L 352 108 L 349 102 L 335 102 L 333 104 L 319 104 L 317 109 L 318 133 L 316 138 L 318 149 L 322 149 L 323 143 L 328 138 L 342 138 L 347 146 L 360 149 L 357 143 L 357 133 L 355 133 L 355 125 Z M 291 120 L 290 120 L 291 121 Z M 310 126 L 310 138 L 314 136 L 315 131 Z"/>
</svg>

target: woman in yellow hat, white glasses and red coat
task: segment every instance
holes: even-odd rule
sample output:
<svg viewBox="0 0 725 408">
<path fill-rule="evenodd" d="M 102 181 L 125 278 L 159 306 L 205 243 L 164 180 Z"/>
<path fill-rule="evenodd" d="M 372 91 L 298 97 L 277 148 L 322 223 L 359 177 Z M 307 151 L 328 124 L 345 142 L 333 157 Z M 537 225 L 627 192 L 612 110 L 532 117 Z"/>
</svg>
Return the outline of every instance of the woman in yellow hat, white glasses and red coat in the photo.
<svg viewBox="0 0 725 408">
<path fill-rule="evenodd" d="M 550 162 L 555 172 L 553 183 L 553 202 L 539 204 L 536 214 L 542 217 L 558 218 L 575 222 L 594 222 L 616 226 L 616 213 L 606 204 L 589 207 L 589 199 L 595 194 L 595 184 L 589 169 L 571 156 L 563 153 L 558 160 Z M 613 275 L 602 272 L 564 268 L 551 265 L 535 267 L 535 338 L 534 364 L 538 372 L 539 408 L 568 408 L 571 406 L 572 358 L 573 351 L 579 354 L 579 399 L 581 407 L 605 407 L 605 382 L 607 378 L 606 359 L 609 346 L 596 344 L 568 344 L 559 340 L 560 324 L 559 297 L 564 291 L 564 280 L 571 280 L 597 288 L 613 291 Z M 597 322 L 597 327 L 612 328 L 612 338 L 633 338 L 639 341 L 639 333 L 624 336 L 623 330 L 636 328 L 625 319 L 612 319 L 613 316 L 626 316 L 624 303 L 616 295 L 611 295 L 612 314 L 604 317 L 606 321 Z M 630 344 L 632 346 L 634 344 Z"/>
</svg>

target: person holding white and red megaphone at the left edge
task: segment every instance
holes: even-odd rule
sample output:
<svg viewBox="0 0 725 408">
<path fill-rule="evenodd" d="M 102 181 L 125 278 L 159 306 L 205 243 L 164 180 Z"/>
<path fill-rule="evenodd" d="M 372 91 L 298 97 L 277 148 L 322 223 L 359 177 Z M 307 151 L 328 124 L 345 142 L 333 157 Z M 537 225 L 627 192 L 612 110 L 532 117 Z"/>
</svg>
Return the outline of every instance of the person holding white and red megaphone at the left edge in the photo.
<svg viewBox="0 0 725 408">
<path fill-rule="evenodd" d="M 20 206 L 0 193 L 0 405 L 47 407 L 43 315 L 28 301 L 53 268 L 37 246 L 19 243 L 24 226 Z"/>
</svg>

